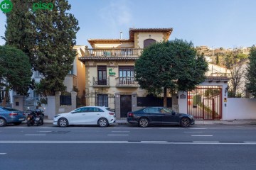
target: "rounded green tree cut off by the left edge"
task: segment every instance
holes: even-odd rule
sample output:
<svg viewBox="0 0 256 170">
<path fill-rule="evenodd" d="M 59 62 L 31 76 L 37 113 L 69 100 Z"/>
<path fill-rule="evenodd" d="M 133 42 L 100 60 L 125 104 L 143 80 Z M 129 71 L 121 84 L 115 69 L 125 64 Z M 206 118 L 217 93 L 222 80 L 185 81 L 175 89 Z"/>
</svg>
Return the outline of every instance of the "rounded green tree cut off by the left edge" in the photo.
<svg viewBox="0 0 256 170">
<path fill-rule="evenodd" d="M 31 64 L 28 56 L 14 47 L 0 46 L 0 86 L 4 87 L 3 106 L 9 90 L 26 95 L 31 84 Z"/>
</svg>

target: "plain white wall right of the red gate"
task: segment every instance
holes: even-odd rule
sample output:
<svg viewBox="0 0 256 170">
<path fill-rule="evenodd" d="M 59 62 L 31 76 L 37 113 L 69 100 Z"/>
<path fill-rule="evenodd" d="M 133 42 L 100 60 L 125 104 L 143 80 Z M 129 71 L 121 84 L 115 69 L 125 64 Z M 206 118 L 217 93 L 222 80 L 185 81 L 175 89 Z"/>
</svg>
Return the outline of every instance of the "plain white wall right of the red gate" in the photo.
<svg viewBox="0 0 256 170">
<path fill-rule="evenodd" d="M 228 98 L 227 105 L 225 120 L 256 119 L 256 98 Z"/>
</svg>

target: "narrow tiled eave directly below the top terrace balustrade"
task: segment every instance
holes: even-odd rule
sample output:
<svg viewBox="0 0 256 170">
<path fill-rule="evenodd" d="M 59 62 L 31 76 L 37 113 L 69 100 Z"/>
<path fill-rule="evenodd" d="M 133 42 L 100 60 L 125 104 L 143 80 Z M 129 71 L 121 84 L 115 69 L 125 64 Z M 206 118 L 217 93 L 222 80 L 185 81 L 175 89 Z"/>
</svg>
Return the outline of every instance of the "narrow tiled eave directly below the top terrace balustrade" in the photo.
<svg viewBox="0 0 256 170">
<path fill-rule="evenodd" d="M 137 60 L 138 56 L 134 57 L 79 57 L 80 61 L 92 61 L 92 60 Z"/>
</svg>

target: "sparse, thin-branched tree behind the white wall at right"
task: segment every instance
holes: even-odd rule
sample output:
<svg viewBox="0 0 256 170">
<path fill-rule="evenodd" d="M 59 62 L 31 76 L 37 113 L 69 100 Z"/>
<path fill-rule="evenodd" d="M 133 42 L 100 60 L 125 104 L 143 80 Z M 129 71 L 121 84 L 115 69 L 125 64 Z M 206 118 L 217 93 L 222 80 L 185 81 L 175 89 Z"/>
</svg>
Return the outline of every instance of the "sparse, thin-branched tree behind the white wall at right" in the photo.
<svg viewBox="0 0 256 170">
<path fill-rule="evenodd" d="M 225 56 L 225 67 L 230 69 L 230 81 L 228 81 L 229 97 L 235 98 L 242 96 L 242 78 L 245 76 L 245 69 L 242 66 L 246 57 L 247 56 L 240 53 L 239 50 L 229 52 Z"/>
</svg>

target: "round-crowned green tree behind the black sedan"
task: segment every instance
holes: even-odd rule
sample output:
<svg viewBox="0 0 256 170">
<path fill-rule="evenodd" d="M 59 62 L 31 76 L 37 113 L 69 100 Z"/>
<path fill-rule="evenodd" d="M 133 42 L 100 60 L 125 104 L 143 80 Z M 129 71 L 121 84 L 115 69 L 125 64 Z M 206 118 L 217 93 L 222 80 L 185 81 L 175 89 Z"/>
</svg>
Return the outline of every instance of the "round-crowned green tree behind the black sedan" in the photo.
<svg viewBox="0 0 256 170">
<path fill-rule="evenodd" d="M 190 91 L 205 80 L 208 64 L 203 55 L 197 55 L 192 42 L 171 40 L 144 49 L 135 62 L 135 79 L 149 94 L 164 93 L 167 106 L 167 90 Z"/>
</svg>

